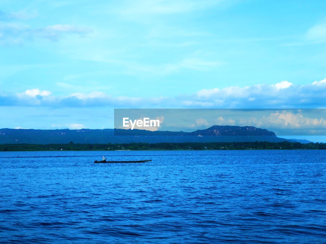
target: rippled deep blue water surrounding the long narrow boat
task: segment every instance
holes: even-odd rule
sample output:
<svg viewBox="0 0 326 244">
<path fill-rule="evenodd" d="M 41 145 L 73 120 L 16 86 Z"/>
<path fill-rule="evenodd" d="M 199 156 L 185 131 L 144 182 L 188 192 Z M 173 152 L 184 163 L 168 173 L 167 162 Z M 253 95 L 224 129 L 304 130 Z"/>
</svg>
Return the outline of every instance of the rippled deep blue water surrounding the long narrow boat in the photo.
<svg viewBox="0 0 326 244">
<path fill-rule="evenodd" d="M 0 153 L 0 243 L 326 242 L 326 151 L 107 153 Z"/>
</svg>

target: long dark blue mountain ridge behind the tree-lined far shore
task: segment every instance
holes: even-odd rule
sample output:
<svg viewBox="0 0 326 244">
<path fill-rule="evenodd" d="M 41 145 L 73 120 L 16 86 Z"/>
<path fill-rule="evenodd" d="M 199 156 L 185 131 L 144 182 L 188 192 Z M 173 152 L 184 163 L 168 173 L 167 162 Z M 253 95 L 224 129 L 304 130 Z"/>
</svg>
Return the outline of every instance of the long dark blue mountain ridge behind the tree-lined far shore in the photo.
<svg viewBox="0 0 326 244">
<path fill-rule="evenodd" d="M 212 126 L 193 132 L 126 129 L 0 129 L 5 143 L 130 143 L 130 142 L 295 142 L 253 126 Z M 307 141 L 307 140 L 304 140 Z M 309 141 L 305 142 L 308 143 Z"/>
</svg>

